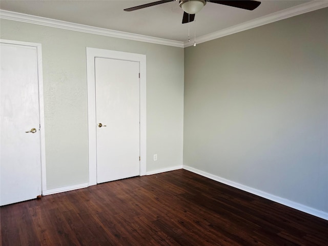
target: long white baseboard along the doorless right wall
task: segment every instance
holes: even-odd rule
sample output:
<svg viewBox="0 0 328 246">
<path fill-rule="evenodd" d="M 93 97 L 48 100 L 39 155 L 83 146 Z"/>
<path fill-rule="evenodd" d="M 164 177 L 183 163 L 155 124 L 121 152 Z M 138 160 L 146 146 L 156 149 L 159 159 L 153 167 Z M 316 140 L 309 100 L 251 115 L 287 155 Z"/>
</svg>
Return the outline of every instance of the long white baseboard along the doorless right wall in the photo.
<svg viewBox="0 0 328 246">
<path fill-rule="evenodd" d="M 305 206 L 303 204 L 300 204 L 300 203 L 297 203 L 297 202 L 294 202 L 294 201 L 291 201 L 291 200 L 288 200 L 288 199 L 285 199 L 285 198 L 282 198 L 282 197 L 279 197 L 279 196 L 275 196 L 275 195 L 269 194 L 267 192 L 263 192 L 263 191 L 260 191 L 260 190 L 257 190 L 257 189 L 254 189 L 254 188 L 251 188 L 251 187 L 248 187 L 248 186 L 244 186 L 244 185 L 241 185 L 240 183 L 237 183 L 237 182 L 225 179 L 225 178 L 221 178 L 219 176 L 216 176 L 216 175 L 213 175 L 213 174 L 210 174 L 210 173 L 207 173 L 207 172 L 204 172 L 204 171 L 201 171 L 201 170 L 189 167 L 189 166 L 183 165 L 183 169 L 186 169 L 186 170 L 188 170 L 190 172 L 193 172 L 193 173 L 197 173 L 201 176 L 213 179 L 215 181 L 224 183 L 228 186 L 232 186 L 232 187 L 237 188 L 239 190 L 243 190 L 243 191 L 252 193 L 254 195 L 267 198 L 269 200 L 278 202 L 280 204 L 283 204 L 283 205 L 288 206 L 288 207 L 293 208 L 293 209 L 297 209 L 297 210 L 302 211 L 304 213 L 308 213 L 308 214 L 317 216 L 319 218 L 328 220 L 328 213 L 327 212 L 320 211 L 320 210 Z"/>
</svg>

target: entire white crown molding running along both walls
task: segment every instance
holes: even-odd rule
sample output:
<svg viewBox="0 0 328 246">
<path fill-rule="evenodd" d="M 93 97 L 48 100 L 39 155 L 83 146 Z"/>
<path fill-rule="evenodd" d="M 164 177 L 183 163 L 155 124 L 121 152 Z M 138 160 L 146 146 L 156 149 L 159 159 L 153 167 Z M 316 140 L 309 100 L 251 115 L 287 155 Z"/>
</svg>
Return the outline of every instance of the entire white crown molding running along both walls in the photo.
<svg viewBox="0 0 328 246">
<path fill-rule="evenodd" d="M 197 44 L 201 44 L 219 37 L 228 36 L 237 32 L 263 26 L 269 23 L 277 22 L 278 20 L 281 19 L 290 18 L 299 14 L 304 14 L 307 12 L 311 12 L 326 7 L 328 7 L 328 1 L 326 0 L 325 1 L 316 0 L 309 3 L 301 4 L 292 8 L 284 9 L 272 14 L 268 14 L 250 20 L 249 22 L 245 22 L 239 25 L 235 25 L 233 27 L 229 27 L 217 32 L 213 32 L 207 35 L 197 37 Z M 189 42 L 179 42 L 176 40 L 170 40 L 165 38 L 151 37 L 151 36 L 134 34 L 129 32 L 121 32 L 121 31 L 110 30 L 106 28 L 92 27 L 92 26 L 81 25 L 76 23 L 64 22 L 63 20 L 39 17 L 35 15 L 17 13 L 7 10 L 0 10 L 0 18 L 16 20 L 18 22 L 25 22 L 25 23 L 31 23 L 36 25 L 48 26 L 48 27 L 61 28 L 71 31 L 85 32 L 85 33 L 116 37 L 116 38 L 124 38 L 124 39 L 139 41 L 139 42 L 174 46 L 180 48 L 186 48 L 193 45 Z"/>
</svg>

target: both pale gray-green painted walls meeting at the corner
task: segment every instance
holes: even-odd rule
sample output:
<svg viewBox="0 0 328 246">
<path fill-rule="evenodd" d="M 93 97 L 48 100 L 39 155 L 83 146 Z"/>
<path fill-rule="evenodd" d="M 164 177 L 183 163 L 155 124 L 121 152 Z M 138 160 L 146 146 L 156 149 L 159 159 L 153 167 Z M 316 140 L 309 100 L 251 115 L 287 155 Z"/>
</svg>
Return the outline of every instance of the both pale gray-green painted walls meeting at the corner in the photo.
<svg viewBox="0 0 328 246">
<path fill-rule="evenodd" d="M 183 165 L 328 212 L 326 16 L 185 50 L 2 19 L 1 38 L 42 44 L 47 189 L 88 182 L 92 47 L 147 55 L 147 171 L 183 153 Z"/>
</svg>

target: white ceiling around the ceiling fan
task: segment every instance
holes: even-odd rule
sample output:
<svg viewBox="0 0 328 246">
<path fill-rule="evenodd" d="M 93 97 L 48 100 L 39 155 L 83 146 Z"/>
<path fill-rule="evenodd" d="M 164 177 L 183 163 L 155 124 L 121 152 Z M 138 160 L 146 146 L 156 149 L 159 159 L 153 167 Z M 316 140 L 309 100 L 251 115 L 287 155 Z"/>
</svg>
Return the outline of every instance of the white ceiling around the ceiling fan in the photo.
<svg viewBox="0 0 328 246">
<path fill-rule="evenodd" d="M 183 11 L 178 2 L 170 2 L 132 12 L 125 8 L 155 1 L 0 1 L 0 9 L 42 16 L 65 22 L 83 24 L 158 38 L 186 42 L 188 24 L 181 24 Z M 204 36 L 265 15 L 295 7 L 310 1 L 264 0 L 253 10 L 207 3 L 190 24 L 190 36 Z"/>
</svg>

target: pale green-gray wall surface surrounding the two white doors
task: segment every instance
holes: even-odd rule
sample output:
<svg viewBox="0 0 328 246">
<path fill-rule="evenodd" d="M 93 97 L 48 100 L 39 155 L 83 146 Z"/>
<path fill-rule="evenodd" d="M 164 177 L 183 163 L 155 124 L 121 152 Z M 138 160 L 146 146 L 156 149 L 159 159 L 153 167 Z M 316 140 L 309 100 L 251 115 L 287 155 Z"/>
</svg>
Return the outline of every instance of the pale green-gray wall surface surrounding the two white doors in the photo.
<svg viewBox="0 0 328 246">
<path fill-rule="evenodd" d="M 182 165 L 182 48 L 5 19 L 0 27 L 3 39 L 42 44 L 47 189 L 88 182 L 86 47 L 146 54 L 147 171 Z"/>
</svg>

